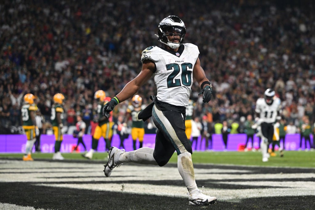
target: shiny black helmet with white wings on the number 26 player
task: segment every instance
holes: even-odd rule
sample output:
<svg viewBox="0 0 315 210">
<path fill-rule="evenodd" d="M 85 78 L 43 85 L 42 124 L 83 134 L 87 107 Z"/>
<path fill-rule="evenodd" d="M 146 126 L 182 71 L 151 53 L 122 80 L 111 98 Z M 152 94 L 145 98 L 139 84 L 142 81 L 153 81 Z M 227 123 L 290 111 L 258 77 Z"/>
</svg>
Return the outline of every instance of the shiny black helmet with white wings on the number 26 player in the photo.
<svg viewBox="0 0 315 210">
<path fill-rule="evenodd" d="M 158 34 L 158 35 L 157 35 Z M 186 27 L 184 22 L 175 15 L 169 15 L 168 17 L 164 18 L 159 26 L 158 32 L 155 36 L 158 37 L 158 41 L 163 44 L 166 44 L 172 49 L 179 48 L 179 46 L 183 43 L 185 35 L 186 35 Z M 172 35 L 180 36 L 180 42 L 170 42 L 167 36 Z"/>
</svg>

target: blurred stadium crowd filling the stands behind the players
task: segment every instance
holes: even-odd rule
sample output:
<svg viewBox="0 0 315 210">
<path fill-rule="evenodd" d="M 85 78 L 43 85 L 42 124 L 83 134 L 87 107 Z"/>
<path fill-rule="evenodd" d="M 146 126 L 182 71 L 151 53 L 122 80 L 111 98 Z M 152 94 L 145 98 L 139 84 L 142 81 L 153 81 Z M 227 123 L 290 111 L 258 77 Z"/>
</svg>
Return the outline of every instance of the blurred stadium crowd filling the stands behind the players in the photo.
<svg viewBox="0 0 315 210">
<path fill-rule="evenodd" d="M 49 121 L 52 96 L 65 95 L 65 125 L 82 114 L 89 125 L 94 93 L 113 97 L 141 70 L 143 49 L 158 45 L 157 26 L 180 16 L 184 42 L 196 44 L 214 99 L 198 97 L 195 115 L 234 122 L 254 114 L 266 88 L 282 101 L 282 115 L 298 125 L 314 123 L 315 17 L 312 1 L 23 1 L 0 3 L 1 126 L 19 126 L 23 96 L 38 97 Z M 143 104 L 156 92 L 151 79 L 138 94 Z M 128 101 L 114 110 L 114 121 Z"/>
</svg>

